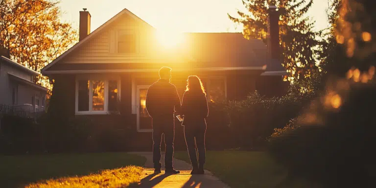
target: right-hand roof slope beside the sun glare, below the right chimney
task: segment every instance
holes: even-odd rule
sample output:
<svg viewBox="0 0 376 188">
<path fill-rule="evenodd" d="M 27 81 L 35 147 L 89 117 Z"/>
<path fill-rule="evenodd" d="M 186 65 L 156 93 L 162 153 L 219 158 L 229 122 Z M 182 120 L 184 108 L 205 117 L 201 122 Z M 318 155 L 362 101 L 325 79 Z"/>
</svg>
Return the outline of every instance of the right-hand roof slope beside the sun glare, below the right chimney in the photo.
<svg viewBox="0 0 376 188">
<path fill-rule="evenodd" d="M 262 67 L 266 46 L 242 33 L 186 33 L 183 49 L 203 67 Z M 230 64 L 230 65 L 229 65 Z"/>
</svg>

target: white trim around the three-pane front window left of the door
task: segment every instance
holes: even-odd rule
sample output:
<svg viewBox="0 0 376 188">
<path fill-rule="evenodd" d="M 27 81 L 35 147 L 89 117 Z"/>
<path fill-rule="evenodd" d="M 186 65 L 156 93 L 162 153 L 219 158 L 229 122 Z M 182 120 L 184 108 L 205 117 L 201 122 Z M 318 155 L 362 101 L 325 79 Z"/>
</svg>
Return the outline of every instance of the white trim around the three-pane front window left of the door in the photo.
<svg viewBox="0 0 376 188">
<path fill-rule="evenodd" d="M 78 81 L 79 80 L 90 80 L 89 84 L 89 111 L 78 111 Z M 99 80 L 104 81 L 104 110 L 103 111 L 91 111 L 93 109 L 93 80 Z M 101 115 L 101 114 L 110 114 L 111 112 L 108 111 L 108 87 L 109 87 L 109 81 L 110 80 L 116 80 L 118 84 L 118 99 L 121 100 L 121 84 L 120 84 L 120 78 L 112 79 L 112 78 L 106 78 L 103 79 L 103 77 L 95 77 L 95 76 L 87 76 L 87 77 L 80 77 L 76 78 L 75 80 L 75 115 Z"/>
</svg>

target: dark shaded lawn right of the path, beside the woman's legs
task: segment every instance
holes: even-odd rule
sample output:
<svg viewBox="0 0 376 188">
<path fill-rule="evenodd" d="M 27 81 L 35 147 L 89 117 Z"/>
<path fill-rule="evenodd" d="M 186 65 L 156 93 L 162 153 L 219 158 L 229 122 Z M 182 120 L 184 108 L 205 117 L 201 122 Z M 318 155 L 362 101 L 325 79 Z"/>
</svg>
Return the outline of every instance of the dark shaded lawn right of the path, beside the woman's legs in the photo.
<svg viewBox="0 0 376 188">
<path fill-rule="evenodd" d="M 186 151 L 174 157 L 188 163 Z M 286 180 L 287 171 L 265 152 L 207 151 L 206 169 L 232 188 L 313 188 L 303 180 Z"/>
</svg>

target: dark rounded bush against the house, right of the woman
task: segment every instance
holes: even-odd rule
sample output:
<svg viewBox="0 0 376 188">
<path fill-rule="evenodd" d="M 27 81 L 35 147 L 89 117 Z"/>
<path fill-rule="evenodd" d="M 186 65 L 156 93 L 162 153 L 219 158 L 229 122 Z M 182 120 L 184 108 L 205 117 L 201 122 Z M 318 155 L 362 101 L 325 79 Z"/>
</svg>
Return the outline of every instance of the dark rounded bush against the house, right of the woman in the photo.
<svg viewBox="0 0 376 188">
<path fill-rule="evenodd" d="M 296 117 L 302 106 L 302 100 L 292 94 L 267 98 L 255 93 L 246 100 L 229 102 L 226 112 L 236 145 L 245 149 L 264 147 L 273 130 Z"/>
</svg>

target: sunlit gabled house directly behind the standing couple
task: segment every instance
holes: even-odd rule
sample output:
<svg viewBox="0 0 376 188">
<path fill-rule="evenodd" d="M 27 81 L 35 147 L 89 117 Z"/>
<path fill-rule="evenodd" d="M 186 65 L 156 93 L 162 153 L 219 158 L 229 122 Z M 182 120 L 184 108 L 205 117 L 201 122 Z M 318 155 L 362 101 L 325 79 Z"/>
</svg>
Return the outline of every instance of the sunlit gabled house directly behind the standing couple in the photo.
<svg viewBox="0 0 376 188">
<path fill-rule="evenodd" d="M 244 39 L 241 33 L 185 33 L 184 42 L 164 48 L 157 30 L 127 9 L 90 33 L 91 15 L 84 9 L 79 42 L 42 73 L 54 79 L 52 98 L 64 101 L 56 104 L 59 112 L 132 131 L 134 148 L 151 149 L 145 98 L 163 66 L 172 68 L 171 82 L 180 96 L 188 75 L 202 78 L 211 102 L 243 99 L 256 90 L 275 95 L 286 92 L 282 81 L 286 71 L 278 55 L 270 55 L 278 53 L 278 19 L 271 19 L 275 23 L 270 29 L 277 29 L 270 32 L 277 34 L 270 40 L 274 51 L 269 52 L 261 40 Z"/>
</svg>

